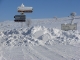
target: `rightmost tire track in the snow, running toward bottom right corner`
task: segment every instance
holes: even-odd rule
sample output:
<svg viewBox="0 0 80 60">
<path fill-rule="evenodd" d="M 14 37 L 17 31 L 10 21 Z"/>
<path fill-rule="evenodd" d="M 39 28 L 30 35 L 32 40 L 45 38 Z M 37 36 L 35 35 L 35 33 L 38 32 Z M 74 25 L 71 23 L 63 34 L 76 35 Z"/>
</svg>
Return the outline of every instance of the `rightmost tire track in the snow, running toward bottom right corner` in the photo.
<svg viewBox="0 0 80 60">
<path fill-rule="evenodd" d="M 74 57 L 74 55 L 73 54 L 69 54 L 67 50 L 63 50 L 62 51 L 62 50 L 60 50 L 58 48 L 55 48 L 54 46 L 53 46 L 54 47 L 53 49 L 50 48 L 49 46 L 45 46 L 45 47 L 47 49 L 49 49 L 51 52 L 56 52 L 57 54 L 61 55 L 63 58 L 66 58 L 68 60 L 79 59 L 76 54 L 75 54 L 75 57 Z"/>
</svg>

